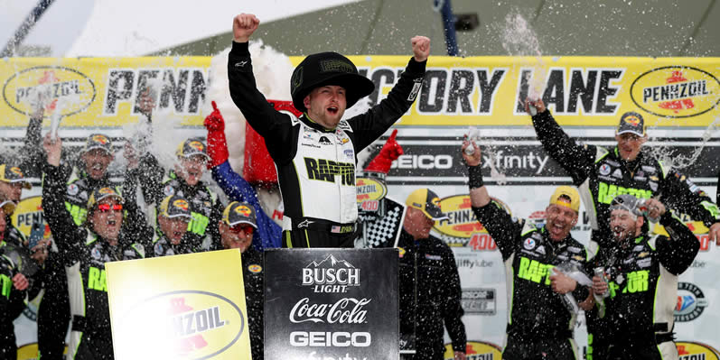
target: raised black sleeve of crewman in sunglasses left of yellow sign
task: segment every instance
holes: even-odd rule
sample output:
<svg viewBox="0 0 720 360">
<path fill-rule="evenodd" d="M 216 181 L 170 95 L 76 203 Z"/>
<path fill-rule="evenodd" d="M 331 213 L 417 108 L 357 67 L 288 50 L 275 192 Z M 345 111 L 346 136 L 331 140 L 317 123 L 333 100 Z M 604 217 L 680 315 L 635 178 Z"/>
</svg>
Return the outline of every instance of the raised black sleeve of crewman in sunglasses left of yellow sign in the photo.
<svg viewBox="0 0 720 360">
<path fill-rule="evenodd" d="M 52 239 L 65 259 L 66 264 L 77 261 L 78 244 L 85 241 L 86 231 L 75 222 L 70 212 L 65 208 L 65 180 L 61 166 L 52 166 L 45 163 L 43 166 L 44 179 L 42 180 L 42 212 L 50 226 Z"/>
</svg>

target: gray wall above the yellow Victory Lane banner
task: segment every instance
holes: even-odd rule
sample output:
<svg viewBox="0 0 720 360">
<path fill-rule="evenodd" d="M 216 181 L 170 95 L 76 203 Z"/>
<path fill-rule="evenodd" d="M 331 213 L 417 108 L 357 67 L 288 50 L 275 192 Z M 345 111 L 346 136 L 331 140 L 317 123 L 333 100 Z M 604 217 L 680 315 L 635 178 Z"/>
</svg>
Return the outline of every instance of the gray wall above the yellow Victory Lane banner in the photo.
<svg viewBox="0 0 720 360">
<path fill-rule="evenodd" d="M 475 30 L 457 33 L 464 56 L 523 54 L 503 47 L 508 43 L 503 31 L 518 28 L 517 23 L 506 23 L 508 14 L 528 19 L 543 55 L 720 56 L 718 0 L 451 1 L 455 14 L 480 17 Z M 432 0 L 365 0 L 261 23 L 253 38 L 287 55 L 318 51 L 409 55 L 409 39 L 416 34 L 432 39 L 433 55 L 447 53 L 441 17 Z M 227 32 L 153 55 L 212 55 L 229 46 L 231 39 Z"/>
</svg>

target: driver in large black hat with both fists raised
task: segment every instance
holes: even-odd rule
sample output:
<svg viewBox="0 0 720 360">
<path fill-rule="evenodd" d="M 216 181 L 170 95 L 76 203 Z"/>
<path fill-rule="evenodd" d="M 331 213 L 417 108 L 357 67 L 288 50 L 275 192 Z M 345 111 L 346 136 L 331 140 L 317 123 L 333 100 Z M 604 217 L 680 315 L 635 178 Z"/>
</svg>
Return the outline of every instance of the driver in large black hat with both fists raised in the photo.
<svg viewBox="0 0 720 360">
<path fill-rule="evenodd" d="M 248 51 L 259 20 L 239 14 L 228 58 L 230 96 L 276 163 L 283 196 L 285 247 L 352 247 L 357 230 L 356 154 L 385 133 L 413 104 L 425 76 L 430 40 L 414 37 L 413 58 L 388 97 L 368 112 L 341 120 L 375 86 L 336 52 L 305 58 L 290 80 L 300 118 L 280 113 L 257 90 Z"/>
</svg>

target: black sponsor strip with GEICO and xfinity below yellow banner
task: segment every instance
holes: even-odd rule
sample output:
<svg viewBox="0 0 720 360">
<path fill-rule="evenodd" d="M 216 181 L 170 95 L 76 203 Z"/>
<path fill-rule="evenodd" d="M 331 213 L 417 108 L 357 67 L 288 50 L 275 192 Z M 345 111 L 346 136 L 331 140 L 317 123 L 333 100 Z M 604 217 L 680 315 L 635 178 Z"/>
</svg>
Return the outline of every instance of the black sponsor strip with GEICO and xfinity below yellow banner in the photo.
<svg viewBox="0 0 720 360">
<path fill-rule="evenodd" d="M 388 185 L 398 185 L 406 182 L 417 184 L 437 184 L 447 183 L 466 183 L 466 180 L 457 180 L 458 177 L 467 177 L 467 169 L 463 163 L 463 157 L 460 153 L 460 140 L 457 145 L 447 144 L 448 140 L 453 138 L 416 138 L 416 137 L 398 137 L 397 140 L 402 143 L 406 140 L 413 142 L 423 141 L 423 144 L 403 144 L 403 154 L 393 162 L 393 167 L 388 172 Z M 560 165 L 549 157 L 542 145 L 527 144 L 528 142 L 537 142 L 534 138 L 505 138 L 505 139 L 485 139 L 487 141 L 506 141 L 519 142 L 519 144 L 503 144 L 493 145 L 489 149 L 480 143 L 482 147 L 482 168 L 486 175 L 485 182 L 493 183 L 491 179 L 491 165 L 500 173 L 505 175 L 508 183 L 521 182 L 522 184 L 547 184 L 555 185 L 557 183 L 570 183 L 570 178 L 566 171 Z M 600 139 L 581 139 L 584 143 L 594 143 Z M 602 139 L 609 141 L 612 139 Z M 710 182 L 696 181 L 697 185 L 715 185 L 717 171 L 720 171 L 720 163 L 717 162 L 716 154 L 717 143 L 711 141 L 703 145 L 700 139 L 697 139 L 697 145 L 675 145 L 669 139 L 653 139 L 659 143 L 660 153 L 668 153 L 671 159 L 692 159 L 695 152 L 697 158 L 687 167 L 680 169 L 679 172 L 694 178 L 711 178 Z M 664 141 L 667 141 L 665 143 Z M 677 141 L 675 139 L 674 141 Z M 685 142 L 694 143 L 695 140 L 685 140 Z M 523 144 L 520 144 L 522 142 Z M 603 146 L 612 151 L 614 146 Z M 656 146 L 646 145 L 643 152 L 657 153 L 653 148 Z M 702 147 L 702 148 L 701 148 Z M 370 154 L 370 158 L 377 155 L 379 151 L 376 149 Z M 493 152 L 491 156 L 490 152 Z M 397 177 L 414 178 L 413 180 L 397 180 Z M 454 178 L 454 179 L 453 179 Z M 565 178 L 565 180 L 547 180 L 542 178 Z M 531 182 L 528 182 L 531 180 Z"/>
</svg>

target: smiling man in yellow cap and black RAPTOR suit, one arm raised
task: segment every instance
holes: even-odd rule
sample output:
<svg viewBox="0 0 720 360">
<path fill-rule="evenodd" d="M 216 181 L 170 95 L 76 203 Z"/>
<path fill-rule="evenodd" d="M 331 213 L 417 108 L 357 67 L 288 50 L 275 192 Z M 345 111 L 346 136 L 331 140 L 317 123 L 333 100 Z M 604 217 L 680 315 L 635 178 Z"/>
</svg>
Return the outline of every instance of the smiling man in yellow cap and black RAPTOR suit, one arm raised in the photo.
<svg viewBox="0 0 720 360">
<path fill-rule="evenodd" d="M 474 149 L 472 155 L 464 152 L 468 146 Z M 576 303 L 589 308 L 590 291 L 553 268 L 584 271 L 584 246 L 570 235 L 577 223 L 580 195 L 575 188 L 558 187 L 545 209 L 546 225 L 537 228 L 511 217 L 490 198 L 482 180 L 480 148 L 465 141 L 462 149 L 470 173 L 472 211 L 498 245 L 507 288 L 512 291 L 502 358 L 577 359 L 576 313 L 574 306 L 567 307 L 565 295 L 572 293 Z"/>
</svg>

